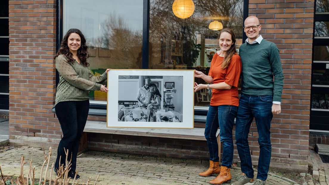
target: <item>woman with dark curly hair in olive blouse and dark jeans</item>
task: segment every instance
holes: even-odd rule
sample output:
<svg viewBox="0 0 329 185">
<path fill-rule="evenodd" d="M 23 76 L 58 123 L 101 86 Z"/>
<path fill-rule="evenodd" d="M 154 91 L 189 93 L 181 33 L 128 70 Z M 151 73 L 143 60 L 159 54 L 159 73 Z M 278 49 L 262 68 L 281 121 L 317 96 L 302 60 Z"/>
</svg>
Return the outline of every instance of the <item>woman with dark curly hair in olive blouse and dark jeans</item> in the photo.
<svg viewBox="0 0 329 185">
<path fill-rule="evenodd" d="M 58 172 L 61 165 L 65 166 L 65 150 L 68 149 L 67 160 L 71 160 L 72 164 L 68 176 L 72 179 L 75 176 L 78 148 L 89 112 L 89 91 L 108 91 L 99 83 L 107 79 L 109 69 L 100 76 L 93 76 L 87 62 L 87 50 L 86 39 L 81 31 L 69 29 L 61 42 L 61 48 L 54 56 L 59 72 L 55 111 L 63 131 L 57 150 L 55 172 Z M 77 174 L 76 178 L 80 176 Z"/>
</svg>

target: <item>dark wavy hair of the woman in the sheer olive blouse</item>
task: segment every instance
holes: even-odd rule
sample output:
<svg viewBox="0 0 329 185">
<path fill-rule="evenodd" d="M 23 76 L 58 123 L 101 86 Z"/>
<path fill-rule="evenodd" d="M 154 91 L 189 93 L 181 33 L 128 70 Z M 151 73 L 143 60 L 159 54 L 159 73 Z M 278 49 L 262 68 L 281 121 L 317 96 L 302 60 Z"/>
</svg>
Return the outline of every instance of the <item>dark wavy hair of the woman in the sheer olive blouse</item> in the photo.
<svg viewBox="0 0 329 185">
<path fill-rule="evenodd" d="M 62 54 L 67 58 L 67 62 L 69 62 L 69 63 L 74 62 L 73 54 L 70 52 L 70 50 L 67 46 L 67 40 L 68 40 L 68 37 L 71 35 L 71 33 L 76 33 L 80 36 L 81 45 L 80 45 L 80 48 L 78 49 L 77 55 L 80 59 L 80 63 L 82 63 L 84 66 L 88 67 L 89 63 L 87 62 L 87 58 L 89 57 L 89 53 L 88 53 L 88 46 L 86 45 L 86 38 L 80 30 L 75 29 L 75 28 L 71 28 L 66 32 L 66 34 L 61 42 L 61 47 L 57 51 L 56 55 L 54 56 L 54 59 L 56 59 L 56 57 L 58 57 L 58 55 Z"/>
</svg>

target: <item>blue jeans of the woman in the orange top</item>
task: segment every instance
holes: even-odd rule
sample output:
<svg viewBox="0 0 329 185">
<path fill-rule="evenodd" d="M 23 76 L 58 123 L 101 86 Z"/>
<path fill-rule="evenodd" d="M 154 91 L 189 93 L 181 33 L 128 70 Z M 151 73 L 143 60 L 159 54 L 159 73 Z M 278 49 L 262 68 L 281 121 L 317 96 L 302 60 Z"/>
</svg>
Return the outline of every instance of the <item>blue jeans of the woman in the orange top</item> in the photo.
<svg viewBox="0 0 329 185">
<path fill-rule="evenodd" d="M 218 143 L 216 132 L 219 126 L 220 142 L 223 143 L 223 158 L 222 166 L 231 168 L 233 162 L 233 137 L 232 129 L 234 118 L 237 116 L 237 106 L 234 105 L 219 105 L 209 106 L 205 137 L 210 154 L 210 160 L 214 162 L 219 161 L 218 157 Z"/>
</svg>

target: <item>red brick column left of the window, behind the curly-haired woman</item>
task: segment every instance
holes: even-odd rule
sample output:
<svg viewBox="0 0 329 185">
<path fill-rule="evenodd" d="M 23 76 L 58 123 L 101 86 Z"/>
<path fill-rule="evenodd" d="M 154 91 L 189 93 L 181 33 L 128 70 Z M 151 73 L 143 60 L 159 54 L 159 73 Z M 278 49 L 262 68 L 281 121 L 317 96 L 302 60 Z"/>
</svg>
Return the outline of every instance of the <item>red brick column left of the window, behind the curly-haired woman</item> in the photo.
<svg viewBox="0 0 329 185">
<path fill-rule="evenodd" d="M 56 1 L 9 1 L 9 142 L 56 146 Z"/>
</svg>

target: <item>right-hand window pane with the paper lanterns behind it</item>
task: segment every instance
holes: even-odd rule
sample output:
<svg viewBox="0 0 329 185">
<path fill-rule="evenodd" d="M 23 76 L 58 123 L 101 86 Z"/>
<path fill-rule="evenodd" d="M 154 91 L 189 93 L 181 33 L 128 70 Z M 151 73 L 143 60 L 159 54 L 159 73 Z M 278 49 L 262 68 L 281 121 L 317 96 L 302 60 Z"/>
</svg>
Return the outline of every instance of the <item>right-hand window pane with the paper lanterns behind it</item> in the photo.
<svg viewBox="0 0 329 185">
<path fill-rule="evenodd" d="M 219 31 L 209 24 L 219 21 L 237 36 L 237 50 L 242 43 L 243 0 L 193 0 L 194 13 L 182 19 L 172 11 L 173 0 L 150 0 L 149 68 L 197 69 L 208 74 L 218 46 Z M 197 83 L 205 83 L 195 79 Z M 208 106 L 211 92 L 195 93 L 195 106 Z"/>
</svg>

